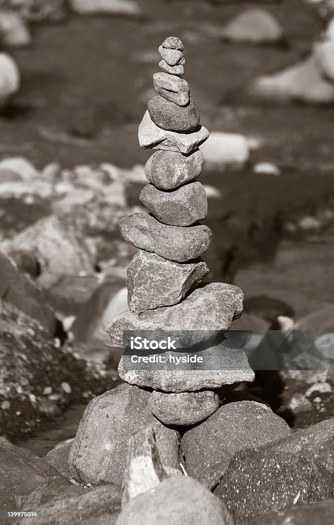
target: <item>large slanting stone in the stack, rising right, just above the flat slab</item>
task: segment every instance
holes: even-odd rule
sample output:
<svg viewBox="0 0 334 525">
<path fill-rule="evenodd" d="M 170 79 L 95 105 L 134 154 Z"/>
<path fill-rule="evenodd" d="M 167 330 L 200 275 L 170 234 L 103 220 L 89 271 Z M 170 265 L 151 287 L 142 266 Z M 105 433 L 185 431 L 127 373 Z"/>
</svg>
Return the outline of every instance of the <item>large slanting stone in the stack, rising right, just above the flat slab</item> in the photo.
<svg viewBox="0 0 334 525">
<path fill-rule="evenodd" d="M 184 338 L 178 339 L 187 348 L 210 339 L 206 331 L 215 337 L 221 330 L 229 330 L 232 320 L 241 316 L 242 301 L 240 288 L 214 282 L 197 288 L 174 306 L 147 310 L 139 316 L 124 311 L 114 317 L 107 332 L 115 343 L 123 344 L 123 330 L 160 330 L 164 334 L 169 330 L 195 331 L 185 332 Z"/>
</svg>

